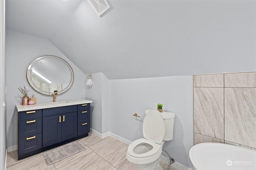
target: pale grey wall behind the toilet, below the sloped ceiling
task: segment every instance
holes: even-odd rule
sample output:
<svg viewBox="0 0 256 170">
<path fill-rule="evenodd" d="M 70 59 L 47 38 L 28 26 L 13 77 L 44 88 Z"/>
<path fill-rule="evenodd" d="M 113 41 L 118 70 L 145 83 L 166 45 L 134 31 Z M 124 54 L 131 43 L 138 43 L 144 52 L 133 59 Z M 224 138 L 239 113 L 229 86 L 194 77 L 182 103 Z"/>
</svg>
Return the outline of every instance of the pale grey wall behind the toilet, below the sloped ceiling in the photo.
<svg viewBox="0 0 256 170">
<path fill-rule="evenodd" d="M 175 113 L 174 137 L 163 149 L 176 162 L 192 168 L 189 150 L 193 146 L 192 76 L 170 76 L 109 81 L 110 132 L 129 141 L 142 138 L 145 110 L 163 104 Z M 138 113 L 140 118 L 133 116 Z M 164 155 L 168 157 L 167 155 Z"/>
</svg>

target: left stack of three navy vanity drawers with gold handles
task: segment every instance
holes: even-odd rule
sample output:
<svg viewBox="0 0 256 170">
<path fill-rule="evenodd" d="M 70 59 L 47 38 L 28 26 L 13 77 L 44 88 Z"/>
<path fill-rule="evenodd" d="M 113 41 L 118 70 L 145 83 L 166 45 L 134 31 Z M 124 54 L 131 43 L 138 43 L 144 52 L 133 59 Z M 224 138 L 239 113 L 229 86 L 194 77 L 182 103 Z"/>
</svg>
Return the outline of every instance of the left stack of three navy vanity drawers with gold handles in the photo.
<svg viewBox="0 0 256 170">
<path fill-rule="evenodd" d="M 20 155 L 42 148 L 42 109 L 18 112 L 18 160 Z"/>
</svg>

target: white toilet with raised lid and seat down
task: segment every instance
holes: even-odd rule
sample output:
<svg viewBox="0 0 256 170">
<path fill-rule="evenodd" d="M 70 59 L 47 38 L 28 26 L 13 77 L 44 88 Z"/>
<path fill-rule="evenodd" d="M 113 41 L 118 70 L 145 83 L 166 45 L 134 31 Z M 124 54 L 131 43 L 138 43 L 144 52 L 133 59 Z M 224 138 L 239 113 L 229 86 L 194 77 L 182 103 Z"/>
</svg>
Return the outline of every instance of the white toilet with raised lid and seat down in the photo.
<svg viewBox="0 0 256 170">
<path fill-rule="evenodd" d="M 144 138 L 133 141 L 126 152 L 126 158 L 136 166 L 136 170 L 162 170 L 159 158 L 164 141 L 173 138 L 175 114 L 160 113 L 156 109 L 147 109 L 143 121 Z"/>
</svg>

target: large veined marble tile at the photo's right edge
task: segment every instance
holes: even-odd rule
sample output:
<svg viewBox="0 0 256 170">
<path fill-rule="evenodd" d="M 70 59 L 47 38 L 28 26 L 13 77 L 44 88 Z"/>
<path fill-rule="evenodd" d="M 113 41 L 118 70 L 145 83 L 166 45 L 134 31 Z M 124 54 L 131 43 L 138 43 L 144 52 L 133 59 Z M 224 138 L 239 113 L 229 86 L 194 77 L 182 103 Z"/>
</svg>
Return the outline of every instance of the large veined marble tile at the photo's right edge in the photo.
<svg viewBox="0 0 256 170">
<path fill-rule="evenodd" d="M 256 88 L 225 88 L 225 141 L 256 148 Z"/>
</svg>

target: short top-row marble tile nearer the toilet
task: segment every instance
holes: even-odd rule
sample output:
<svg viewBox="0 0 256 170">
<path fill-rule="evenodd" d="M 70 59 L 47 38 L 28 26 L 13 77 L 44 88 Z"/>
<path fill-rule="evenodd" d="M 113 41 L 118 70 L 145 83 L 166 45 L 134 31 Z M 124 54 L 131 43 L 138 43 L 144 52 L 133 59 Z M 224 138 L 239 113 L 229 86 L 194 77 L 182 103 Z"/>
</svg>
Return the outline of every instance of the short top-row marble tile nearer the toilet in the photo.
<svg viewBox="0 0 256 170">
<path fill-rule="evenodd" d="M 224 87 L 224 74 L 194 75 L 194 87 Z"/>
</svg>

